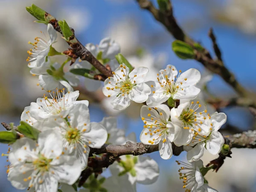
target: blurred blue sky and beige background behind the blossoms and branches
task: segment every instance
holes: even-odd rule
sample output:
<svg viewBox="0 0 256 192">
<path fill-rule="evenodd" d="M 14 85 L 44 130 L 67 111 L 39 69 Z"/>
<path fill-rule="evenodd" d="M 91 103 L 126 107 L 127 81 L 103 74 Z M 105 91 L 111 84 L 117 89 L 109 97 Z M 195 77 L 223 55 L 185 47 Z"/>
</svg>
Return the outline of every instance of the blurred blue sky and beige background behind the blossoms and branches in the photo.
<svg viewBox="0 0 256 192">
<path fill-rule="evenodd" d="M 27 42 L 42 35 L 40 31 L 47 34 L 47 27 L 33 23 L 34 18 L 26 12 L 25 7 L 31 3 L 58 20 L 65 19 L 83 44 L 99 44 L 102 38 L 112 37 L 135 67 L 148 66 L 156 74 L 159 68 L 173 64 L 183 71 L 196 68 L 204 74 L 204 67 L 196 61 L 177 58 L 171 49 L 172 36 L 149 12 L 141 10 L 135 0 L 0 0 L 0 122 L 18 125 L 24 107 L 44 94 L 37 86 L 38 78 L 29 73 L 26 62 L 26 51 L 31 48 Z M 157 5 L 156 0 L 154 3 Z M 227 68 L 244 87 L 256 91 L 256 0 L 172 0 L 172 3 L 178 23 L 210 51 L 212 45 L 207 33 L 213 27 Z M 67 44 L 59 37 L 54 47 L 64 51 Z M 213 76 L 207 87 L 210 94 L 219 98 L 235 96 L 218 76 Z M 116 115 L 103 100 L 101 90 L 91 93 L 90 98 L 82 86 L 79 90 L 80 99 L 91 101 L 91 121 L 99 122 L 103 116 Z M 140 107 L 131 105 L 118 116 L 119 128 L 125 128 L 127 134 L 135 132 L 138 141 L 143 128 Z M 227 125 L 236 126 L 236 131 L 255 128 L 254 118 L 247 109 L 233 107 L 221 111 L 227 113 Z M 227 129 L 225 134 L 229 132 L 232 134 L 234 130 Z M 0 150 L 6 153 L 8 147 L 0 144 Z M 219 192 L 255 192 L 256 150 L 232 149 L 232 152 L 233 158 L 227 158 L 217 174 L 208 172 L 209 186 Z M 186 161 L 185 152 L 170 160 L 161 159 L 158 152 L 150 156 L 159 163 L 160 177 L 149 186 L 138 184 L 137 191 L 183 191 L 175 160 Z M 215 157 L 206 153 L 204 164 L 213 159 Z M 16 192 L 18 190 L 6 179 L 7 164 L 6 157 L 0 157 L 3 173 L 0 192 Z"/>
</svg>

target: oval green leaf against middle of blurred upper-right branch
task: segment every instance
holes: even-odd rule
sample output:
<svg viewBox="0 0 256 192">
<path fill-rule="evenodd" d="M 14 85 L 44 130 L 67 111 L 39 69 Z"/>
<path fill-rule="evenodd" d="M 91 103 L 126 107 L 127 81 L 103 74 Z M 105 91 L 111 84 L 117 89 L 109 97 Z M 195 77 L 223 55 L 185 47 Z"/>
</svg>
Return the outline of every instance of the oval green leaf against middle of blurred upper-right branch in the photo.
<svg viewBox="0 0 256 192">
<path fill-rule="evenodd" d="M 173 41 L 172 50 L 176 53 L 179 58 L 192 59 L 195 57 L 194 49 L 183 41 Z"/>
</svg>

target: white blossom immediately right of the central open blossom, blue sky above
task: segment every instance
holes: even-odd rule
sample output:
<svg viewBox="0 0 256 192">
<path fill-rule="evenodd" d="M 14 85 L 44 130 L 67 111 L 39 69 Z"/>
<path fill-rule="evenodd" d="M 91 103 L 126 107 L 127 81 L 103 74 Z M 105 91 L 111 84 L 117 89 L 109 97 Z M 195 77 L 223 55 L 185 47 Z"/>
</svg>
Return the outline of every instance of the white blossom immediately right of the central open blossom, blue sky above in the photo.
<svg viewBox="0 0 256 192">
<path fill-rule="evenodd" d="M 148 81 L 151 87 L 151 94 L 147 99 L 147 105 L 155 107 L 172 99 L 195 99 L 200 93 L 200 89 L 195 84 L 201 78 L 200 72 L 196 69 L 186 70 L 179 74 L 173 65 L 167 65 L 165 70 L 160 70 L 157 74 L 157 81 Z"/>
</svg>

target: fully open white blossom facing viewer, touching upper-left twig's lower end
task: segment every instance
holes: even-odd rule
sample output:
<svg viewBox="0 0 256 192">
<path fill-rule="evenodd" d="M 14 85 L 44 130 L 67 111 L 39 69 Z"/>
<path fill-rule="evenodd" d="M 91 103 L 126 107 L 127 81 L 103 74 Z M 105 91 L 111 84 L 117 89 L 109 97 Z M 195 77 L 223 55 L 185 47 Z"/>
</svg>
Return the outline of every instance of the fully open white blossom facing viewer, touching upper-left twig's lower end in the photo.
<svg viewBox="0 0 256 192">
<path fill-rule="evenodd" d="M 122 64 L 113 72 L 114 77 L 109 77 L 104 82 L 103 93 L 113 98 L 113 109 L 124 110 L 131 100 L 143 103 L 148 99 L 150 87 L 144 83 L 148 68 L 138 67 L 129 72 L 129 68 Z"/>
</svg>

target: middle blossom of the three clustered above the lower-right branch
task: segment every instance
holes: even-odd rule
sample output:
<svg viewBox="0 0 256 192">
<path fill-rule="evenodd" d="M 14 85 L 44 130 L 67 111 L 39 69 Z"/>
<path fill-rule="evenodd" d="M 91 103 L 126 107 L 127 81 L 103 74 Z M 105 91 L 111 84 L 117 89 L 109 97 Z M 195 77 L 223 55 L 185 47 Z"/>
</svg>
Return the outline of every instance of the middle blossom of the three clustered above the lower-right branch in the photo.
<svg viewBox="0 0 256 192">
<path fill-rule="evenodd" d="M 208 136 L 211 132 L 211 116 L 199 101 L 186 102 L 171 109 L 172 123 L 180 126 L 180 132 L 174 140 L 175 145 L 188 145 L 194 135 Z"/>
</svg>

